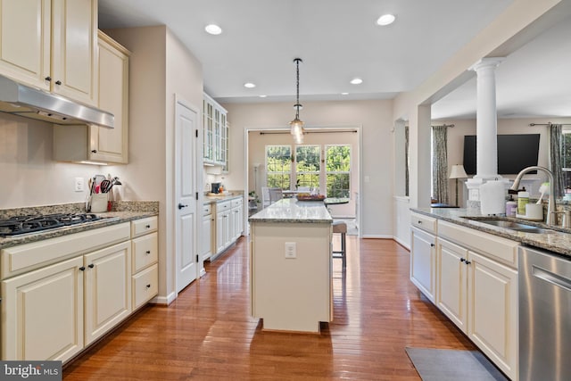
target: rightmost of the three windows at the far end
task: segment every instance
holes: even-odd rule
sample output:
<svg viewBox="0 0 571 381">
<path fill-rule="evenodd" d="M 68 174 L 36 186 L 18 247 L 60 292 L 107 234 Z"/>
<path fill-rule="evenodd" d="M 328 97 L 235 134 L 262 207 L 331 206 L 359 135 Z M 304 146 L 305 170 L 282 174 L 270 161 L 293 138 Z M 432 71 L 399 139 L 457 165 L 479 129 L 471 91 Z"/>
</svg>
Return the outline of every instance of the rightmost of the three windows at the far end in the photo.
<svg viewBox="0 0 571 381">
<path fill-rule="evenodd" d="M 351 195 L 351 145 L 326 145 L 327 197 Z"/>
</svg>

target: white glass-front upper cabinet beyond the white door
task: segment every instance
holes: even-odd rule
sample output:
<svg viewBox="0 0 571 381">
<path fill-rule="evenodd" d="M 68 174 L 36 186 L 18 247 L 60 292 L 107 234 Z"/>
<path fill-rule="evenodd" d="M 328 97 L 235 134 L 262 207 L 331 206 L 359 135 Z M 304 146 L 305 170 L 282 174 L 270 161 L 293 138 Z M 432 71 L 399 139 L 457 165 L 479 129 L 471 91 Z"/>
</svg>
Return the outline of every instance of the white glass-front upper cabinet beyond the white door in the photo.
<svg viewBox="0 0 571 381">
<path fill-rule="evenodd" d="M 213 164 L 228 171 L 228 112 L 211 96 L 204 94 L 203 130 L 205 164 Z"/>
</svg>

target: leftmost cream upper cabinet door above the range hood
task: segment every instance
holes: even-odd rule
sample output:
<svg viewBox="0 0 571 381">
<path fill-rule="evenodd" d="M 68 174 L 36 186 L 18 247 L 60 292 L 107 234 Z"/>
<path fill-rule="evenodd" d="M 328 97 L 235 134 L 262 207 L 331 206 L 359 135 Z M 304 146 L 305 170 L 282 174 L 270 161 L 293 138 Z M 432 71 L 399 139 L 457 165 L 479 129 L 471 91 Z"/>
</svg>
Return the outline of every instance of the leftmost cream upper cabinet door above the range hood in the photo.
<svg viewBox="0 0 571 381">
<path fill-rule="evenodd" d="M 0 72 L 50 89 L 51 0 L 0 1 Z"/>
</svg>

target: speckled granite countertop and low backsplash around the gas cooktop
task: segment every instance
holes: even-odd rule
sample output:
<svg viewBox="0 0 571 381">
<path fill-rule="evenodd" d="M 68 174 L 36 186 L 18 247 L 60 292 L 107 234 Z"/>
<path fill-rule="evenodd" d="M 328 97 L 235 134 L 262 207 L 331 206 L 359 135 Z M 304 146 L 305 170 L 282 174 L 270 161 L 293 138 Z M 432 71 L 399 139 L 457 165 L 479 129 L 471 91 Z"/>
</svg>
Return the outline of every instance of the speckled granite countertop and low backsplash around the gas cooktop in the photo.
<svg viewBox="0 0 571 381">
<path fill-rule="evenodd" d="M 48 214 L 54 212 L 70 213 L 85 212 L 85 203 L 73 203 L 62 205 L 50 205 L 46 207 L 31 207 L 21 209 L 11 209 L 0 211 L 0 215 L 25 215 L 25 214 Z M 114 202 L 113 210 L 104 213 L 94 213 L 103 217 L 93 222 L 72 225 L 64 228 L 54 228 L 42 232 L 23 234 L 21 236 L 0 237 L 0 249 L 16 246 L 18 244 L 29 244 L 42 241 L 56 236 L 67 236 L 82 231 L 103 228 L 128 222 L 133 219 L 144 219 L 146 217 L 157 216 L 159 214 L 158 202 Z"/>
</svg>

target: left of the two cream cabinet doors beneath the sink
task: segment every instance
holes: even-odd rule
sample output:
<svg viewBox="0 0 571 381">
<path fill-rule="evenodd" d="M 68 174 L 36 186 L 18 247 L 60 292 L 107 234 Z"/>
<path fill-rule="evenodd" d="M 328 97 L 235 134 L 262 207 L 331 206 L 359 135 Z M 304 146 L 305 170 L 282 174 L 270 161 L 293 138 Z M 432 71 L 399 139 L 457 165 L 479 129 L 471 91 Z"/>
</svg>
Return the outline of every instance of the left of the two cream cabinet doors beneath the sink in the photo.
<svg viewBox="0 0 571 381">
<path fill-rule="evenodd" d="M 468 323 L 468 250 L 438 238 L 436 305 L 463 332 Z"/>
</svg>

